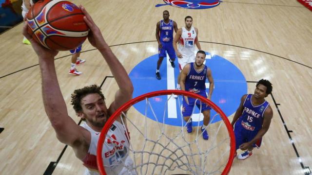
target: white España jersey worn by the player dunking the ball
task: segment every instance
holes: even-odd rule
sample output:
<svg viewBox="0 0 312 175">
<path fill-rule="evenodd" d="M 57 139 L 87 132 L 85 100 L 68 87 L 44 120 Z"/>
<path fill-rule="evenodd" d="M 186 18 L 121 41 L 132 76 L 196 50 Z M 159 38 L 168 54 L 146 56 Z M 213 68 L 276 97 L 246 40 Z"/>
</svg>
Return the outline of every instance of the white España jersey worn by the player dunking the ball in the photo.
<svg viewBox="0 0 312 175">
<path fill-rule="evenodd" d="M 83 123 L 80 126 L 91 133 L 88 154 L 82 160 L 83 165 L 87 167 L 85 175 L 99 175 L 96 156 L 100 133 L 94 131 L 87 123 Z M 129 140 L 127 136 L 129 136 L 129 133 L 127 133 L 123 125 L 117 121 L 113 123 L 107 132 L 102 151 L 102 158 L 107 175 L 136 174 L 132 171 L 133 161 L 129 157 Z M 129 167 L 129 169 L 127 167 Z"/>
</svg>

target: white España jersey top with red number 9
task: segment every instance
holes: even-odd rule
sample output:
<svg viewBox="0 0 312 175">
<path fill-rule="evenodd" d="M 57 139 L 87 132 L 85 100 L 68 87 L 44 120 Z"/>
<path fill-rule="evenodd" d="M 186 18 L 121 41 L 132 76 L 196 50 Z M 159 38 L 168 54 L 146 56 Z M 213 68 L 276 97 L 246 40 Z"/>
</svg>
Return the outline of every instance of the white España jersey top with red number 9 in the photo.
<svg viewBox="0 0 312 175">
<path fill-rule="evenodd" d="M 192 56 L 195 52 L 195 38 L 197 34 L 195 28 L 192 27 L 190 31 L 182 27 L 182 35 L 178 43 L 178 51 L 182 55 Z"/>
</svg>

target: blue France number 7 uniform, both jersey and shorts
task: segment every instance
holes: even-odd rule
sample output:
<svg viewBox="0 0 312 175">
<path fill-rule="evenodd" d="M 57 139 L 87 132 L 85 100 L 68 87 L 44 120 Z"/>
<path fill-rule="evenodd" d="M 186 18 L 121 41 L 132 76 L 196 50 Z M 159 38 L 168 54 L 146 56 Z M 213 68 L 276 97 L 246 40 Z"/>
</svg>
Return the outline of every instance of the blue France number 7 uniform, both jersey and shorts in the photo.
<svg viewBox="0 0 312 175">
<path fill-rule="evenodd" d="M 186 79 L 185 79 L 185 90 L 196 93 L 198 95 L 201 95 L 207 98 L 205 83 L 206 83 L 206 78 L 207 78 L 208 67 L 204 65 L 204 69 L 197 72 L 195 70 L 194 63 L 189 63 L 189 64 L 190 64 L 190 71 L 187 74 Z M 195 100 L 196 100 L 195 98 L 188 97 L 188 101 L 189 101 L 189 105 L 188 105 L 183 98 L 183 103 L 182 103 L 183 117 L 192 115 L 193 108 L 195 105 Z M 201 112 L 211 109 L 209 105 L 203 104 L 199 100 L 197 100 L 196 106 L 198 107 L 198 109 L 200 109 L 200 104 L 202 104 Z"/>
</svg>

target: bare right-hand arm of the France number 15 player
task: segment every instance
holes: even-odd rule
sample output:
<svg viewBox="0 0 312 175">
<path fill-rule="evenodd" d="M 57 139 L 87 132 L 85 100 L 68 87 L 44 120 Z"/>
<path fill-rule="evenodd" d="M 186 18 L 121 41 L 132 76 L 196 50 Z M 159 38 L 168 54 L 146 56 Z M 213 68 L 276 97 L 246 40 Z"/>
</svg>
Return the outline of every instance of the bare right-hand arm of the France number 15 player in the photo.
<svg viewBox="0 0 312 175">
<path fill-rule="evenodd" d="M 246 150 L 249 147 L 251 147 L 257 140 L 261 139 L 264 136 L 264 134 L 269 130 L 272 118 L 273 118 L 273 110 L 272 110 L 271 106 L 269 105 L 263 114 L 262 128 L 259 130 L 257 135 L 255 135 L 253 140 L 251 140 L 247 143 L 243 143 L 242 145 L 239 146 L 239 148 L 241 150 Z"/>
</svg>

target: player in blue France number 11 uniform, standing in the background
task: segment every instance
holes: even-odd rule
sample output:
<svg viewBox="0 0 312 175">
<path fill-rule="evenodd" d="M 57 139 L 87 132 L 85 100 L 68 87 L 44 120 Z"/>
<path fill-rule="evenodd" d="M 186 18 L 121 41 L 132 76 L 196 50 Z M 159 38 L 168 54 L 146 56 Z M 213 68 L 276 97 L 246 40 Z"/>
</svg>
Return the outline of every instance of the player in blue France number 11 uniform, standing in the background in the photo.
<svg viewBox="0 0 312 175">
<path fill-rule="evenodd" d="M 162 13 L 163 20 L 157 22 L 156 24 L 156 39 L 158 42 L 158 61 L 157 61 L 157 68 L 156 68 L 156 78 L 158 80 L 161 79 L 159 68 L 162 63 L 164 57 L 166 57 L 166 51 L 170 57 L 169 61 L 171 66 L 175 68 L 175 60 L 176 60 L 176 53 L 173 48 L 172 42 L 174 38 L 174 30 L 177 31 L 177 25 L 174 20 L 169 19 L 170 15 L 167 10 Z"/>
</svg>

